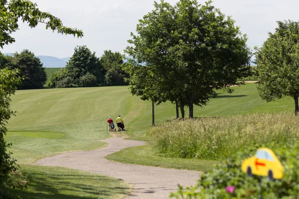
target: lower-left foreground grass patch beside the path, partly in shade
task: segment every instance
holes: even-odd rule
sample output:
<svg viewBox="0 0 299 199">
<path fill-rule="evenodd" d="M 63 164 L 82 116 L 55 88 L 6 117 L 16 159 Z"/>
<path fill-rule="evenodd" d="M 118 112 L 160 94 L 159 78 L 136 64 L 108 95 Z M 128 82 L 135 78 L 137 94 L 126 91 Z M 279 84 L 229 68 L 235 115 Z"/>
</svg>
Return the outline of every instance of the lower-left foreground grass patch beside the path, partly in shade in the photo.
<svg viewBox="0 0 299 199">
<path fill-rule="evenodd" d="M 128 183 L 62 167 L 21 165 L 28 188 L 12 190 L 23 199 L 115 199 L 131 194 Z"/>
</svg>

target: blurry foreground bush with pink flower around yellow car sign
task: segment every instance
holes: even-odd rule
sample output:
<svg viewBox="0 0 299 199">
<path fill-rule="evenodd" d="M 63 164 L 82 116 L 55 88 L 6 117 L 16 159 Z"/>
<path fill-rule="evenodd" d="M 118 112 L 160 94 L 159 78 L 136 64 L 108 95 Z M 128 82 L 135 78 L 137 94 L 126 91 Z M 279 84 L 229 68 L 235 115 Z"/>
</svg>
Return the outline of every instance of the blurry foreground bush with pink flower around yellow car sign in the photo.
<svg viewBox="0 0 299 199">
<path fill-rule="evenodd" d="M 270 182 L 262 178 L 262 192 L 259 177 L 247 177 L 241 171 L 242 160 L 252 157 L 258 145 L 248 147 L 237 152 L 226 161 L 215 166 L 212 171 L 202 175 L 194 187 L 183 189 L 179 187 L 171 197 L 177 199 L 257 199 L 262 193 L 264 199 L 298 199 L 299 196 L 299 144 L 277 147 L 276 144 L 267 145 L 271 148 L 285 167 L 281 180 Z M 266 147 L 267 147 L 266 146 Z M 234 186 L 233 193 L 226 192 L 226 187 Z"/>
</svg>

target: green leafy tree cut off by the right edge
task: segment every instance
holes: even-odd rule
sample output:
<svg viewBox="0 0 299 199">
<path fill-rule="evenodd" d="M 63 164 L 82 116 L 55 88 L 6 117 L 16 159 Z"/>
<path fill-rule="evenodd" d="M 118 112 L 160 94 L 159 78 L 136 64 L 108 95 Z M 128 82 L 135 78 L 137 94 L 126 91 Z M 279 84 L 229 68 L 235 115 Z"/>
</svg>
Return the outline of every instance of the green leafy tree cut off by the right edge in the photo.
<svg viewBox="0 0 299 199">
<path fill-rule="evenodd" d="M 278 21 L 274 33 L 256 52 L 258 91 L 272 101 L 291 96 L 298 115 L 299 95 L 299 22 Z"/>
</svg>

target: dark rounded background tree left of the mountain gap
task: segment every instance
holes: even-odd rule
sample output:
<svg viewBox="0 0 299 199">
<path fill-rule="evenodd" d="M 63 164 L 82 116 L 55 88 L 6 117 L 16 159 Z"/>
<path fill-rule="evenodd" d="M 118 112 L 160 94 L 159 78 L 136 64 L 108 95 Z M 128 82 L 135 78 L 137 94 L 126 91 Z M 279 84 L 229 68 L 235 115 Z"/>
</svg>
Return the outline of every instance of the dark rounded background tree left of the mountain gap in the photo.
<svg viewBox="0 0 299 199">
<path fill-rule="evenodd" d="M 19 70 L 22 78 L 18 89 L 41 89 L 47 80 L 45 69 L 38 57 L 29 50 L 14 53 L 11 58 L 11 67 Z"/>
</svg>

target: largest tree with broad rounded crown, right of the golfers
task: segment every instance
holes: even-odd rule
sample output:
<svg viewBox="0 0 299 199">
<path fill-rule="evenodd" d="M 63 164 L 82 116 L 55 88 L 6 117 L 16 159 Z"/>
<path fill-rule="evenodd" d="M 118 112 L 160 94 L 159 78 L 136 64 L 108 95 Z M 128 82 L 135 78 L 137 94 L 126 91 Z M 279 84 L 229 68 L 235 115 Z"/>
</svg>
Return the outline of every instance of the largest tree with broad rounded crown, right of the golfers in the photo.
<svg viewBox="0 0 299 199">
<path fill-rule="evenodd" d="M 212 1 L 179 0 L 171 6 L 161 0 L 154 7 L 137 24 L 137 34 L 131 33 L 126 52 L 153 68 L 158 88 L 171 92 L 168 100 L 188 105 L 193 117 L 194 104 L 206 105 L 215 90 L 232 92 L 231 85 L 242 84 L 238 79 L 250 73 L 251 51 L 231 17 Z"/>
</svg>

